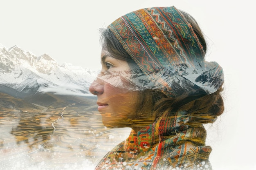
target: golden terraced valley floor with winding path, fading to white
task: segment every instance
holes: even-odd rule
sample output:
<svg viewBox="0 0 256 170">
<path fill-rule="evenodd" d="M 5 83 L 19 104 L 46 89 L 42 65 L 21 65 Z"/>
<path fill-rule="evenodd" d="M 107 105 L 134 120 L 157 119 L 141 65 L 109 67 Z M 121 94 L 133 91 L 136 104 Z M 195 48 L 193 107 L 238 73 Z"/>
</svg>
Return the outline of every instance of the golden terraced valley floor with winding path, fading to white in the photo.
<svg viewBox="0 0 256 170">
<path fill-rule="evenodd" d="M 38 113 L 0 109 L 1 170 L 90 170 L 130 132 L 105 128 L 95 108 L 41 108 Z"/>
</svg>

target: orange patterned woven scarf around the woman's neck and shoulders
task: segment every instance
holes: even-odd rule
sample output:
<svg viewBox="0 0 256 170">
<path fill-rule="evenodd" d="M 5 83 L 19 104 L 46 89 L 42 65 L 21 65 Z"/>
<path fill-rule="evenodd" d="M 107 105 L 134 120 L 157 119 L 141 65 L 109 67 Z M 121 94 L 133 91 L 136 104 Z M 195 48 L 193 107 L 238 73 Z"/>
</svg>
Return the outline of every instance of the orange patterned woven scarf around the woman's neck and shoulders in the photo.
<svg viewBox="0 0 256 170">
<path fill-rule="evenodd" d="M 137 133 L 132 130 L 96 170 L 211 170 L 206 131 L 202 124 L 190 125 L 191 122 L 193 117 L 183 112 L 176 116 L 165 113 Z"/>
</svg>

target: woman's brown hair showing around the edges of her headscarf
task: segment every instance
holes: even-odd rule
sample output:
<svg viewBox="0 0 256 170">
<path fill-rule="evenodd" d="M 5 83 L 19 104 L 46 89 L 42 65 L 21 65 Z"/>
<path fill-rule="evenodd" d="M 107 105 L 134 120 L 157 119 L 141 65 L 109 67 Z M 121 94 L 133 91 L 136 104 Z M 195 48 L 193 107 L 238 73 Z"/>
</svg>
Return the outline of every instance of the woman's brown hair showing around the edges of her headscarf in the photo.
<svg viewBox="0 0 256 170">
<path fill-rule="evenodd" d="M 198 36 L 198 39 L 203 46 L 204 52 L 206 52 L 207 44 L 197 22 L 188 13 L 184 11 L 180 12 L 184 15 L 187 22 L 191 24 L 195 34 Z M 130 55 L 126 52 L 110 29 L 100 29 L 100 32 L 102 50 L 108 51 L 111 57 L 127 61 L 132 70 L 140 70 L 139 66 L 134 62 L 134 60 L 132 60 Z M 204 94 L 190 97 L 181 96 L 175 99 L 170 99 L 166 97 L 164 93 L 157 90 L 148 89 L 145 91 L 139 91 L 139 106 L 137 108 L 137 114 L 150 114 L 148 116 L 152 116 L 157 119 L 157 117 L 166 111 L 176 113 L 177 111 L 185 110 L 187 115 L 194 117 L 194 123 L 212 123 L 216 120 L 216 117 L 221 115 L 224 111 L 224 103 L 222 96 L 220 95 L 221 91 L 222 88 L 210 95 Z"/>
</svg>

